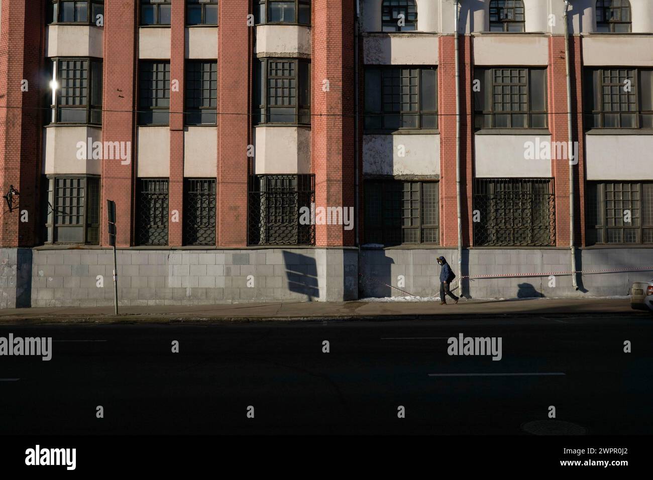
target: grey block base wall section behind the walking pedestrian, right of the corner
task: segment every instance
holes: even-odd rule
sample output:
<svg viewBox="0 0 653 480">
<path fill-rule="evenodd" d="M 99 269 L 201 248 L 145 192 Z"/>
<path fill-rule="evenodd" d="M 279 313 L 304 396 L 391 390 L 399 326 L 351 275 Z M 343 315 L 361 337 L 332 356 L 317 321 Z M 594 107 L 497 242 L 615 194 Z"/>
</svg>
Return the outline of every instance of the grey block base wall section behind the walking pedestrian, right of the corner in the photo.
<svg viewBox="0 0 653 480">
<path fill-rule="evenodd" d="M 653 249 L 647 248 L 577 249 L 577 270 L 583 272 L 577 276 L 579 290 L 573 288 L 568 273 L 571 270 L 569 249 L 483 248 L 464 249 L 462 253 L 462 274 L 485 277 L 458 283 L 457 249 L 362 248 L 359 295 L 361 298 L 406 296 L 387 286 L 400 287 L 402 280 L 405 285 L 402 290 L 408 293 L 438 296 L 440 267 L 436 259 L 439 255 L 447 258 L 458 275 L 452 285 L 454 293 L 460 295 L 462 287 L 464 296 L 471 298 L 626 296 L 633 281 L 653 278 L 652 270 L 604 271 L 653 267 Z"/>
</svg>

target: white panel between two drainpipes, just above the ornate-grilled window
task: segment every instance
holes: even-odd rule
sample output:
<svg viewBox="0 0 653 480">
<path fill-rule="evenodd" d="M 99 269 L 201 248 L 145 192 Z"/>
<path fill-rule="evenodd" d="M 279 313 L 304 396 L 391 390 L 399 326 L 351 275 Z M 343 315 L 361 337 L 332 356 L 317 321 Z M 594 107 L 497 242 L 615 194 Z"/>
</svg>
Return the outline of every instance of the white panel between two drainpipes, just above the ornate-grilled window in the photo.
<svg viewBox="0 0 653 480">
<path fill-rule="evenodd" d="M 528 142 L 550 142 L 550 135 L 475 135 L 478 178 L 550 178 L 550 159 L 525 159 Z"/>
</svg>

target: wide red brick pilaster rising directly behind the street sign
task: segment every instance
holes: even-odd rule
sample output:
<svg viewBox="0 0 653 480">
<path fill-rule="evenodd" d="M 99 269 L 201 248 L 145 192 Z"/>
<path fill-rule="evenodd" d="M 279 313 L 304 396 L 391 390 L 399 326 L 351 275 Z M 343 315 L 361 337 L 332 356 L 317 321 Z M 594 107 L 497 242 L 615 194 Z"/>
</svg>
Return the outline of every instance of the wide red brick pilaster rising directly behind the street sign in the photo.
<svg viewBox="0 0 653 480">
<path fill-rule="evenodd" d="M 101 227 L 102 244 L 108 245 L 106 200 L 116 202 L 118 246 L 129 246 L 134 229 L 135 110 L 136 110 L 136 8 L 138 2 L 104 3 L 104 88 L 103 142 L 129 142 L 131 158 L 123 165 L 118 159 L 102 161 Z M 118 19 L 118 21 L 116 21 Z"/>
</svg>

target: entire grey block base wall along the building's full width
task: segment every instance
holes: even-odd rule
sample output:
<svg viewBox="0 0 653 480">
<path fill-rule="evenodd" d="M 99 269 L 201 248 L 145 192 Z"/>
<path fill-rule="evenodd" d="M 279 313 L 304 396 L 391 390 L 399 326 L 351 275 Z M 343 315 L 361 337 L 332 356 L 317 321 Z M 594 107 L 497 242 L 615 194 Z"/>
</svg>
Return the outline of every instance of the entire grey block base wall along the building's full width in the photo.
<svg viewBox="0 0 653 480">
<path fill-rule="evenodd" d="M 468 298 L 626 296 L 634 281 L 653 278 L 653 270 L 628 271 L 653 267 L 646 248 L 577 250 L 578 290 L 569 250 L 558 248 L 464 249 L 462 275 L 476 278 L 462 284 L 456 249 L 119 249 L 119 304 L 437 296 L 439 255 L 458 275 L 452 291 Z M 110 306 L 113 269 L 110 249 L 0 249 L 0 308 Z"/>
</svg>

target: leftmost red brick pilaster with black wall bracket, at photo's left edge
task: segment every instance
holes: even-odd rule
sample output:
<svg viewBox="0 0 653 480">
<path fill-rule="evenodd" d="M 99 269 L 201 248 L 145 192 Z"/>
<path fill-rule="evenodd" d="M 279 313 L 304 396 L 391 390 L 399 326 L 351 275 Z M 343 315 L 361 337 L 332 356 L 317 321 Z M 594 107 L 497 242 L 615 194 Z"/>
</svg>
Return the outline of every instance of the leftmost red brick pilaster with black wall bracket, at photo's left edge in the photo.
<svg viewBox="0 0 653 480">
<path fill-rule="evenodd" d="M 0 213 L 0 246 L 30 247 L 44 221 L 39 204 L 42 116 L 40 92 L 48 88 L 41 75 L 44 4 L 3 1 L 0 25 L 0 196 L 10 185 L 20 197 Z M 23 91 L 24 83 L 27 90 Z M 27 212 L 27 217 L 24 216 Z M 21 221 L 21 217 L 27 221 Z"/>
</svg>

